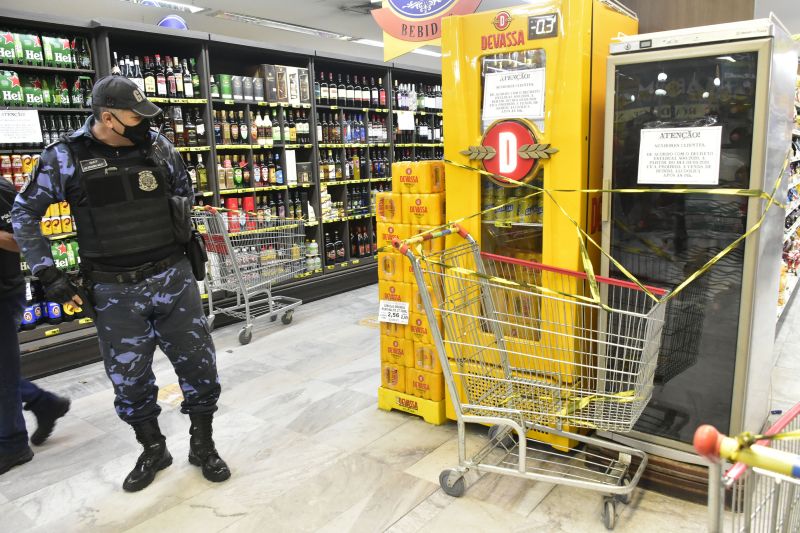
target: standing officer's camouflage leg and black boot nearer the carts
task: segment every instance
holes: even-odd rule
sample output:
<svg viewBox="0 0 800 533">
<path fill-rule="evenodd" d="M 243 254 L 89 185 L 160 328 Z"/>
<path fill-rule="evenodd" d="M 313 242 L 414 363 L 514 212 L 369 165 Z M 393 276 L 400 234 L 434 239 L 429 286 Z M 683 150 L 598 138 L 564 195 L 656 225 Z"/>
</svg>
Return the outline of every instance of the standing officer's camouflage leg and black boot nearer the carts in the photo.
<svg viewBox="0 0 800 533">
<path fill-rule="evenodd" d="M 189 462 L 202 467 L 206 479 L 225 481 L 230 470 L 212 437 L 221 390 L 216 352 L 189 262 L 181 261 L 152 282 L 154 287 L 160 282 L 153 313 L 158 344 L 178 375 L 184 398 L 181 412 L 192 421 Z"/>
</svg>

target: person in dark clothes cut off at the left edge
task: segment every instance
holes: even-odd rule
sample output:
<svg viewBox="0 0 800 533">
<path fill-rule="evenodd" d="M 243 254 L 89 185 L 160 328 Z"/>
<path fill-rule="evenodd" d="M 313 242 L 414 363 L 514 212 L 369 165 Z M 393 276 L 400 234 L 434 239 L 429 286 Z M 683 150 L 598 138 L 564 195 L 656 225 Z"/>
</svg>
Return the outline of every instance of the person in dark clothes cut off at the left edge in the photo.
<svg viewBox="0 0 800 533">
<path fill-rule="evenodd" d="M 11 206 L 17 192 L 0 178 L 0 474 L 33 458 L 22 404 L 39 424 L 31 442 L 43 444 L 56 420 L 69 411 L 69 400 L 20 379 L 17 328 L 25 303 L 25 278 L 19 264 L 19 247 L 11 233 Z"/>
</svg>

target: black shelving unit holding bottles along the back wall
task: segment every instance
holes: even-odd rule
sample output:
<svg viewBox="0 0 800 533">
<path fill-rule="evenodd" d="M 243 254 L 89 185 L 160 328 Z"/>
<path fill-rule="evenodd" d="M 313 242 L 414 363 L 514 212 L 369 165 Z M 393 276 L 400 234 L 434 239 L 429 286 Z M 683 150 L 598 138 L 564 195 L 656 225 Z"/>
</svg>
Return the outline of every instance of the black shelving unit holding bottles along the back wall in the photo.
<svg viewBox="0 0 800 533">
<path fill-rule="evenodd" d="M 300 297 L 305 301 L 312 301 L 324 298 L 333 294 L 351 290 L 360 286 L 374 283 L 376 280 L 376 259 L 373 255 L 367 254 L 366 257 L 352 257 L 350 245 L 350 230 L 354 226 L 363 226 L 369 239 L 374 239 L 375 217 L 374 206 L 369 213 L 349 214 L 336 217 L 335 219 L 323 220 L 321 212 L 322 187 L 326 187 L 332 194 L 335 201 L 344 200 L 355 187 L 367 187 L 370 192 L 375 187 L 383 186 L 391 181 L 391 164 L 396 157 L 408 154 L 411 158 L 430 158 L 433 157 L 443 147 L 442 143 L 418 142 L 414 137 L 411 143 L 395 143 L 394 124 L 398 110 L 394 109 L 391 87 L 393 79 L 399 79 L 407 83 L 422 83 L 425 85 L 440 85 L 440 75 L 435 72 L 424 71 L 405 71 L 395 68 L 393 64 L 381 62 L 367 62 L 359 58 L 336 56 L 322 51 L 308 51 L 282 47 L 280 50 L 270 49 L 265 43 L 257 41 L 247 41 L 231 38 L 227 36 L 212 35 L 195 31 L 172 30 L 160 28 L 148 24 L 120 22 L 108 19 L 98 19 L 91 22 L 70 21 L 61 18 L 47 19 L 40 15 L 32 16 L 23 11 L 5 10 L 6 17 L 0 18 L 0 23 L 5 23 L 7 27 L 30 28 L 32 31 L 46 31 L 50 33 L 67 32 L 88 38 L 88 43 L 92 52 L 92 69 L 63 69 L 54 67 L 29 67 L 15 65 L 20 71 L 43 72 L 43 73 L 68 73 L 74 75 L 92 76 L 99 78 L 111 73 L 113 52 L 117 52 L 118 57 L 130 55 L 131 58 L 139 56 L 143 59 L 145 55 L 156 53 L 178 56 L 181 59 L 194 59 L 196 70 L 200 78 L 199 94 L 196 98 L 158 98 L 152 97 L 151 101 L 162 106 L 180 106 L 184 110 L 196 110 L 205 124 L 205 138 L 198 139 L 198 146 L 180 146 L 178 151 L 187 157 L 195 160 L 201 157 L 204 161 L 208 176 L 208 189 L 198 190 L 195 198 L 198 203 L 206 205 L 220 206 L 224 200 L 236 197 L 253 197 L 257 199 L 260 195 L 280 195 L 284 204 L 288 204 L 288 199 L 295 195 L 300 195 L 305 203 L 307 202 L 314 209 L 316 220 L 306 222 L 307 238 L 314 239 L 320 243 L 320 254 L 324 250 L 324 235 L 326 232 L 338 231 L 345 246 L 345 259 L 343 262 L 332 265 L 324 265 L 322 269 L 308 272 L 298 279 L 284 283 L 275 289 L 275 294 L 285 294 Z M 34 21 L 34 22 L 32 22 Z M 307 104 L 292 105 L 255 100 L 238 100 L 227 98 L 211 98 L 209 77 L 212 74 L 233 74 L 253 76 L 261 64 L 289 65 L 308 68 L 309 81 L 312 88 L 312 101 Z M 359 77 L 366 75 L 381 78 L 383 87 L 386 89 L 385 105 L 379 107 L 364 106 L 340 106 L 340 105 L 321 105 L 313 98 L 313 83 L 319 77 L 320 72 L 353 73 Z M 222 145 L 217 144 L 214 138 L 213 124 L 214 112 L 217 110 L 236 109 L 237 111 L 269 111 L 275 112 L 277 116 L 276 127 L 283 129 L 286 117 L 289 113 L 305 113 L 309 122 L 310 142 L 275 142 L 273 146 L 260 146 L 258 144 L 238 144 Z M 41 112 L 57 114 L 88 114 L 88 109 L 76 108 L 25 108 L 15 107 L 14 109 L 38 109 Z M 317 116 L 318 113 L 336 115 L 343 118 L 345 114 L 377 114 L 386 122 L 389 133 L 388 142 L 365 142 L 365 143 L 321 143 L 317 138 Z M 249 113 L 247 126 L 250 127 Z M 416 117 L 425 120 L 441 118 L 441 113 L 419 111 Z M 341 122 L 339 120 L 338 122 Z M 22 147 L 6 148 L 0 146 L 0 153 L 35 153 L 41 147 Z M 294 150 L 298 162 L 311 163 L 310 183 L 297 183 L 269 187 L 246 187 L 241 189 L 225 190 L 219 186 L 219 176 L 217 175 L 217 156 L 227 153 L 244 156 L 247 161 L 253 161 L 254 156 L 269 155 L 271 152 L 279 154 L 281 165 L 286 169 L 286 152 Z M 387 175 L 386 177 L 373 177 L 368 170 L 366 175 L 361 175 L 360 180 L 327 180 L 320 176 L 319 151 L 327 152 L 331 150 L 334 154 L 339 154 L 340 160 L 344 160 L 345 154 L 350 150 L 362 151 L 368 161 L 378 157 L 378 154 L 386 152 Z M 399 152 L 396 154 L 396 152 Z M 367 165 L 370 168 L 370 165 Z M 374 195 L 370 194 L 372 200 Z M 374 201 L 374 200 L 372 200 Z M 74 237 L 62 235 L 60 239 Z M 66 324 L 66 323 L 65 323 Z M 59 333 L 51 333 L 49 336 L 44 332 L 52 331 L 53 327 L 43 325 L 42 331 L 37 328 L 31 332 L 23 333 L 23 340 L 28 345 L 25 348 L 26 358 L 23 361 L 23 371 L 26 375 L 33 377 L 58 371 L 63 368 L 82 364 L 89 360 L 96 360 L 97 345 L 92 335 L 92 325 L 88 323 L 80 324 L 81 328 L 70 323 L 70 326 L 59 325 Z M 60 341 L 59 339 L 64 339 Z M 26 366 L 27 365 L 27 366 Z"/>
</svg>

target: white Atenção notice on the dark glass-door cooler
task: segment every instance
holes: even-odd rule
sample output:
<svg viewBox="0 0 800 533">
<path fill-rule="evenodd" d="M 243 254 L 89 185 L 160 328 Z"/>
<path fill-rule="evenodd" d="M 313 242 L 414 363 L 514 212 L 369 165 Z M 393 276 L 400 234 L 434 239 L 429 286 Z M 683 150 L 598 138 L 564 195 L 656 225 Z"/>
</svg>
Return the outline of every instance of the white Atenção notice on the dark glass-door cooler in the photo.
<svg viewBox="0 0 800 533">
<path fill-rule="evenodd" d="M 643 129 L 639 177 L 644 185 L 718 185 L 722 126 Z"/>
</svg>

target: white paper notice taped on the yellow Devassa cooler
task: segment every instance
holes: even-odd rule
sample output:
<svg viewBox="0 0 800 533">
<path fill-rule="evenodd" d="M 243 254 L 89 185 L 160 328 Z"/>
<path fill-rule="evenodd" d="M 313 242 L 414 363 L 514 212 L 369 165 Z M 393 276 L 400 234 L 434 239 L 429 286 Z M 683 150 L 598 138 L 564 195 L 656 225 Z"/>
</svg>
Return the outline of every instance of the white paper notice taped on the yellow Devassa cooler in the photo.
<svg viewBox="0 0 800 533">
<path fill-rule="evenodd" d="M 484 124 L 505 118 L 544 118 L 544 69 L 486 74 L 482 118 Z"/>
</svg>

